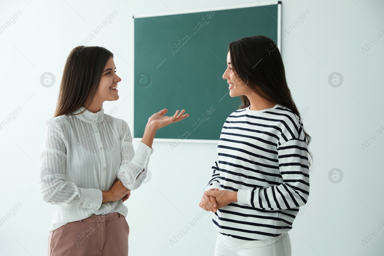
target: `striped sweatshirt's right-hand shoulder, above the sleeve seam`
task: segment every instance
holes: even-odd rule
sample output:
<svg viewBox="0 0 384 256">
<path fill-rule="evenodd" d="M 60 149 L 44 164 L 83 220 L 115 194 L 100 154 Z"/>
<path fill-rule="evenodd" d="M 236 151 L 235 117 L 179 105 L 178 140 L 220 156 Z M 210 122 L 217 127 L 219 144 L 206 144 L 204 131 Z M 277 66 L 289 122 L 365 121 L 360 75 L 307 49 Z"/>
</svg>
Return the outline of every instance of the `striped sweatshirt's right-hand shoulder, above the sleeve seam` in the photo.
<svg viewBox="0 0 384 256">
<path fill-rule="evenodd" d="M 281 138 L 280 143 L 291 139 L 305 141 L 304 126 L 302 119 L 289 108 L 278 106 L 275 109 L 275 115 L 281 120 Z"/>
</svg>

